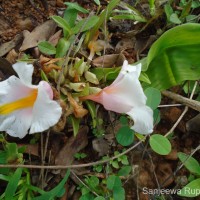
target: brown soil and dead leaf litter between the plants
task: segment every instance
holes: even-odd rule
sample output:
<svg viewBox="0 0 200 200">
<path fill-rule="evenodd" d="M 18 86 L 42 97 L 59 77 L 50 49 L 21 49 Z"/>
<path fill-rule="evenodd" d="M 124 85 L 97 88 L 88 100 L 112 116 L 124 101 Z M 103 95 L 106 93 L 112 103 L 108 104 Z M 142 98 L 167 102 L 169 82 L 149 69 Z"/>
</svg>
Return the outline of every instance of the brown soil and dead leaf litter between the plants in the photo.
<svg viewBox="0 0 200 200">
<path fill-rule="evenodd" d="M 80 3 L 80 5 L 90 10 L 90 12 L 99 12 L 98 6 L 93 1 L 84 0 L 71 2 Z M 106 8 L 107 3 L 107 1 L 101 1 L 102 7 L 100 10 Z M 132 4 L 132 6 L 135 5 L 133 2 L 128 3 Z M 136 7 L 146 18 L 151 18 L 148 5 L 147 1 L 141 1 Z M 174 8 L 179 10 L 180 8 L 177 5 L 177 1 L 174 1 Z M 37 44 L 38 40 L 51 41 L 52 44 L 58 43 L 63 33 L 60 31 L 61 29 L 59 27 L 56 27 L 54 22 L 49 22 L 48 20 L 50 16 L 61 15 L 65 8 L 66 6 L 62 0 L 0 1 L 0 80 L 5 80 L 13 75 L 14 72 L 11 64 L 14 64 L 17 59 L 26 58 L 24 55 L 29 55 L 29 58 L 34 59 L 34 83 L 38 83 L 41 80 L 41 70 L 43 70 L 47 76 L 49 75 L 49 69 L 47 70 L 47 68 L 45 68 L 45 63 L 52 60 L 53 56 L 42 54 L 42 57 L 41 52 L 37 48 Z M 99 39 L 105 39 L 109 44 L 106 44 L 106 50 L 105 44 L 103 45 L 103 49 L 100 50 L 104 50 L 103 54 L 111 55 L 105 58 L 105 65 L 121 66 L 124 59 L 127 59 L 129 63 L 134 63 L 138 61 L 138 57 L 141 59 L 147 55 L 152 43 L 159 37 L 158 32 L 165 32 L 167 29 L 171 28 L 168 27 L 166 23 L 166 16 L 163 9 L 159 9 L 158 14 L 152 17 L 148 23 L 134 23 L 133 20 L 108 20 L 105 23 L 105 26 L 108 28 L 108 33 L 101 32 L 97 35 Z M 196 10 L 194 9 L 193 14 L 198 13 L 198 11 L 198 8 Z M 87 14 L 81 14 L 81 16 L 86 17 Z M 47 24 L 44 26 L 44 23 Z M 32 31 L 35 28 L 37 28 L 37 31 L 34 33 Z M 89 53 L 89 49 L 84 47 L 76 55 L 79 58 L 82 58 L 82 55 L 86 58 Z M 72 56 L 72 54 L 70 56 Z M 99 67 L 102 62 L 104 62 L 102 58 L 96 55 L 91 64 L 93 67 Z M 54 64 L 55 62 L 52 61 L 52 63 Z M 51 67 L 54 70 L 56 69 L 55 65 L 51 65 L 50 71 Z M 54 98 L 58 100 L 57 80 L 54 79 L 54 77 L 51 77 L 50 80 L 54 87 Z M 197 85 L 197 87 L 199 87 L 199 85 Z M 170 88 L 170 91 L 189 97 L 187 96 L 189 94 L 186 94 L 182 88 L 183 87 L 179 85 Z M 67 89 L 63 86 L 61 91 L 65 94 L 66 90 Z M 198 92 L 194 94 L 193 98 L 195 99 L 197 97 Z M 69 103 L 73 105 L 73 100 L 69 100 L 68 104 L 61 102 L 64 111 L 69 108 Z M 162 95 L 162 101 L 158 108 L 160 111 L 160 122 L 155 125 L 154 133 L 159 133 L 161 135 L 169 133 L 170 129 L 177 122 L 185 109 L 185 105 L 176 105 L 177 103 L 179 102 L 166 95 Z M 86 106 L 84 106 L 85 105 L 82 107 L 81 105 L 79 110 L 82 111 L 82 109 L 85 109 Z M 99 161 L 103 156 L 112 158 L 114 152 L 122 152 L 125 150 L 115 139 L 116 132 L 121 126 L 120 116 L 112 112 L 107 112 L 103 107 L 97 107 L 97 110 L 97 117 L 99 119 L 97 122 L 98 128 L 95 130 L 92 128 L 92 118 L 87 115 L 81 119 L 81 126 L 76 137 L 73 136 L 73 128 L 69 120 L 66 121 L 70 114 L 74 114 L 73 111 L 69 111 L 69 113 L 64 112 L 59 123 L 47 132 L 34 136 L 28 135 L 23 139 L 13 138 L 8 135 L 5 136 L 5 138 L 7 142 L 16 143 L 18 147 L 24 145 L 27 147 L 23 154 L 25 160 L 24 164 L 38 166 L 81 165 Z M 156 198 L 155 195 L 149 197 L 147 194 L 144 194 L 144 188 L 182 188 L 188 182 L 187 177 L 189 176 L 189 171 L 185 167 L 179 168 L 181 162 L 177 157 L 177 153 L 184 152 L 188 155 L 191 154 L 199 145 L 199 131 L 199 111 L 189 108 L 169 136 L 172 144 L 172 151 L 170 154 L 161 156 L 155 153 L 148 145 L 149 138 L 146 142 L 141 143 L 135 149 L 129 151 L 126 155 L 129 166 L 131 166 L 131 172 L 127 176 L 121 177 L 123 187 L 126 191 L 126 199 L 145 200 Z M 138 141 L 136 137 L 132 145 L 136 144 Z M 126 149 L 131 148 L 132 145 L 127 146 Z M 1 145 L 1 149 L 3 149 L 3 144 Z M 81 158 L 82 155 L 80 152 L 83 154 L 83 158 Z M 78 156 L 78 158 L 75 159 L 74 155 Z M 86 155 L 86 157 L 84 155 Z M 199 151 L 193 156 L 198 160 Z M 114 164 L 111 163 L 111 161 L 108 162 L 107 165 L 112 169 L 112 173 L 117 173 L 119 168 L 126 165 L 120 162 L 121 161 Z M 14 160 L 13 163 L 6 164 L 16 165 L 20 164 L 20 162 Z M 87 184 L 85 176 L 90 177 L 92 175 L 103 181 L 106 180 L 108 176 L 107 173 L 106 167 L 98 172 L 94 170 L 92 165 L 73 169 L 70 178 L 65 184 L 66 192 L 60 199 L 79 199 L 81 192 L 77 190 L 77 187 L 83 184 L 83 182 L 86 186 L 90 186 L 89 183 Z M 32 185 L 49 191 L 63 180 L 65 170 L 61 170 L 58 167 L 58 169 L 54 170 L 41 169 L 39 171 L 33 167 L 30 169 L 30 174 Z M 5 181 L 1 181 L 1 194 L 5 191 L 5 188 Z M 103 189 L 106 191 L 105 188 Z M 92 192 L 98 193 L 98 190 L 95 188 Z M 165 199 L 185 198 L 178 197 L 177 195 L 168 195 Z"/>
</svg>

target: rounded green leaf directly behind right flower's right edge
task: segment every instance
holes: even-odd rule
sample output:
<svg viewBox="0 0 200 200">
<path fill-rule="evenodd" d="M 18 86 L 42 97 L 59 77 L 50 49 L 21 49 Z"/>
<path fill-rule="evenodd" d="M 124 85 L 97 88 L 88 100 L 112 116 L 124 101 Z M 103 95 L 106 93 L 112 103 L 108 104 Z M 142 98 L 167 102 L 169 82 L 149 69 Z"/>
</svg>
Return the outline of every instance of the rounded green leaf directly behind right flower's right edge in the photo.
<svg viewBox="0 0 200 200">
<path fill-rule="evenodd" d="M 146 105 L 155 110 L 161 102 L 161 93 L 158 89 L 149 87 L 144 91 L 147 102 Z"/>
</svg>

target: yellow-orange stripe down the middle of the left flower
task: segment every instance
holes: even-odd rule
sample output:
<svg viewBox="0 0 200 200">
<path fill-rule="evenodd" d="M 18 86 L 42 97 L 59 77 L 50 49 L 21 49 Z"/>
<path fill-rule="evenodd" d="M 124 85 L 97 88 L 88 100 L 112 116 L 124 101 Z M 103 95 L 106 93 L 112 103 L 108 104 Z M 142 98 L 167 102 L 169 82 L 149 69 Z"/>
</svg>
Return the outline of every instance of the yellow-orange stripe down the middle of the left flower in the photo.
<svg viewBox="0 0 200 200">
<path fill-rule="evenodd" d="M 16 110 L 33 107 L 37 98 L 38 90 L 34 89 L 31 94 L 17 101 L 0 105 L 0 115 L 8 115 Z"/>
</svg>

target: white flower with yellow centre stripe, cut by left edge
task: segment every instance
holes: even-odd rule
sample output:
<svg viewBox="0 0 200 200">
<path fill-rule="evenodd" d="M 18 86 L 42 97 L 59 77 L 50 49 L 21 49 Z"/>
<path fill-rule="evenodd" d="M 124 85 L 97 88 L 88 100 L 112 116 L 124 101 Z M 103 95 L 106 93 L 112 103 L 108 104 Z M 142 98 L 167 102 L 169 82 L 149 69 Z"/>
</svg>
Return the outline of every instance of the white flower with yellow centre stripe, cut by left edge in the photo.
<svg viewBox="0 0 200 200">
<path fill-rule="evenodd" d="M 52 100 L 51 86 L 41 81 L 32 85 L 33 65 L 13 65 L 18 74 L 0 82 L 0 131 L 23 138 L 55 125 L 62 114 L 60 105 Z"/>
</svg>

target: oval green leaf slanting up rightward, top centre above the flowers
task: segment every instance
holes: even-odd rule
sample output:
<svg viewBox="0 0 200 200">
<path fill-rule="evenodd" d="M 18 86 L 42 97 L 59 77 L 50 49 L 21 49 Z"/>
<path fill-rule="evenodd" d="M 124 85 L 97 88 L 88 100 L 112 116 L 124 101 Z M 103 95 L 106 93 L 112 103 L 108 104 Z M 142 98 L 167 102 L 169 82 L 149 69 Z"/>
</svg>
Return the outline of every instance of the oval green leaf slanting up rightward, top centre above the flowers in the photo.
<svg viewBox="0 0 200 200">
<path fill-rule="evenodd" d="M 84 32 L 91 29 L 99 20 L 97 16 L 91 16 L 86 19 L 79 21 L 74 28 L 72 28 L 73 34 L 77 34 L 79 32 Z"/>
</svg>

